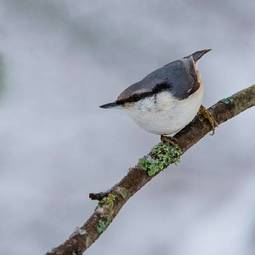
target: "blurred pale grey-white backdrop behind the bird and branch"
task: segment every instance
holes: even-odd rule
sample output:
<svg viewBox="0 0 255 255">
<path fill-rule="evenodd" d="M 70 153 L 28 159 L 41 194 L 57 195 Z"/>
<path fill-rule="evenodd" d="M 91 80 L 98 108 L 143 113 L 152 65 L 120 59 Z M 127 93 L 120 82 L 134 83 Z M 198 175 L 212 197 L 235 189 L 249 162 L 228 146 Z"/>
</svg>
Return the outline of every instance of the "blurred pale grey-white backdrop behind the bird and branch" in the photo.
<svg viewBox="0 0 255 255">
<path fill-rule="evenodd" d="M 0 0 L 0 253 L 44 254 L 93 212 L 89 192 L 159 141 L 98 106 L 171 60 L 200 62 L 206 106 L 255 81 L 254 1 Z M 89 255 L 255 251 L 255 111 L 138 192 Z"/>
</svg>

